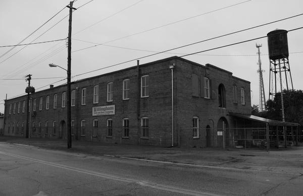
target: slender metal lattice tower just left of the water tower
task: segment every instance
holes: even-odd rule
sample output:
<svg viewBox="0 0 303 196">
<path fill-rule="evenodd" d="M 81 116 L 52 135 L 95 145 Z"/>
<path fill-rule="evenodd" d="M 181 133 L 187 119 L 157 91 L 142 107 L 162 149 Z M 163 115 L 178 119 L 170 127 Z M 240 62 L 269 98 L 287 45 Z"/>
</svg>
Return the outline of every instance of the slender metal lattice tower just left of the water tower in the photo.
<svg viewBox="0 0 303 196">
<path fill-rule="evenodd" d="M 259 69 L 257 70 L 257 73 L 259 73 L 259 111 L 260 112 L 264 112 L 266 111 L 266 107 L 265 107 L 265 91 L 264 91 L 264 82 L 263 82 L 263 72 L 265 72 L 265 70 L 262 70 L 261 68 L 261 58 L 260 58 L 260 47 L 262 47 L 262 44 L 257 44 L 256 43 L 256 47 L 258 48 L 258 63 L 257 65 L 259 65 Z"/>
</svg>

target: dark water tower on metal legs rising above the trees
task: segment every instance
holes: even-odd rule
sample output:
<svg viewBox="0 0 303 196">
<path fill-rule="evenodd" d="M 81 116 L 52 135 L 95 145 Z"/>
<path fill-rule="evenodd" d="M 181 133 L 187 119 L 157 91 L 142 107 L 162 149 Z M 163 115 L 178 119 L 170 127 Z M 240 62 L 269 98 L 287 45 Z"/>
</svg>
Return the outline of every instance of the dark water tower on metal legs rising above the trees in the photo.
<svg viewBox="0 0 303 196">
<path fill-rule="evenodd" d="M 287 31 L 276 29 L 269 32 L 267 37 L 270 59 L 269 99 L 273 99 L 283 89 L 293 90 L 293 85 L 288 61 Z"/>
</svg>

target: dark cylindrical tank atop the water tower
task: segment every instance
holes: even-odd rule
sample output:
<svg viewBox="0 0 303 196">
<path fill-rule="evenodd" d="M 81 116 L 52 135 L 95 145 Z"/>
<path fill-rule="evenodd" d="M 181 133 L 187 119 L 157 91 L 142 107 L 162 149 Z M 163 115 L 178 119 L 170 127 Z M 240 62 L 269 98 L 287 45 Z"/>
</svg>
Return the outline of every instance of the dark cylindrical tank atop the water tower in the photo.
<svg viewBox="0 0 303 196">
<path fill-rule="evenodd" d="M 269 59 L 288 58 L 287 31 L 277 29 L 267 33 Z"/>
</svg>

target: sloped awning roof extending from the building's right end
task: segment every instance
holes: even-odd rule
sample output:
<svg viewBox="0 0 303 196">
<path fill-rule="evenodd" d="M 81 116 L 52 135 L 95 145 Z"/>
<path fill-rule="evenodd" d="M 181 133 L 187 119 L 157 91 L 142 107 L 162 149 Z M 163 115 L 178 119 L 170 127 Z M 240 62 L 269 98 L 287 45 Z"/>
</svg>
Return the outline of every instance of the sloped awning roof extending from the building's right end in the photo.
<svg viewBox="0 0 303 196">
<path fill-rule="evenodd" d="M 248 120 L 251 120 L 251 121 L 268 123 L 269 125 L 300 126 L 299 123 L 291 123 L 291 122 L 283 122 L 283 121 L 278 121 L 278 120 L 271 120 L 271 119 L 262 118 L 262 117 L 259 117 L 259 116 L 250 115 L 250 114 L 237 114 L 237 113 L 231 113 L 231 112 L 229 112 L 229 115 L 235 116 L 235 117 L 239 117 L 239 118 L 248 119 Z"/>
</svg>

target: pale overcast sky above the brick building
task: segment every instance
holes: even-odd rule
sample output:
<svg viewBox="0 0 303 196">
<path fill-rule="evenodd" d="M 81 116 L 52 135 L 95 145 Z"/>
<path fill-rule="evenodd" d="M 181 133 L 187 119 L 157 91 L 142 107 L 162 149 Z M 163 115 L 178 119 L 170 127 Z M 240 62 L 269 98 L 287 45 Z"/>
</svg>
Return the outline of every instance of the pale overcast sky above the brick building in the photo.
<svg viewBox="0 0 303 196">
<path fill-rule="evenodd" d="M 75 1 L 74 7 L 79 8 L 88 2 L 89 0 Z M 69 1 L 63 0 L 1 0 L 0 46 L 18 44 L 68 4 Z M 303 1 L 301 0 L 94 0 L 73 12 L 72 76 L 302 13 Z M 68 17 L 66 17 L 68 14 L 69 9 L 65 8 L 22 43 L 66 38 L 68 36 Z M 66 18 L 63 19 L 64 17 Z M 60 20 L 62 21 L 58 23 Z M 275 29 L 291 30 L 302 27 L 302 21 L 303 16 L 298 16 L 144 58 L 140 60 L 140 64 L 265 36 Z M 58 24 L 55 25 L 56 23 Z M 45 31 L 47 32 L 44 33 Z M 41 34 L 43 35 L 40 36 Z M 302 35 L 303 29 L 287 34 L 289 62 L 295 89 L 302 89 L 303 83 Z M 96 45 L 96 43 L 104 44 L 77 51 Z M 261 61 L 262 68 L 265 70 L 265 93 L 266 99 L 268 99 L 267 38 L 184 58 L 202 65 L 213 64 L 232 72 L 236 77 L 250 81 L 251 103 L 259 105 L 256 43 L 263 45 Z M 0 57 L 2 56 L 0 58 L 0 112 L 2 113 L 6 94 L 8 99 L 25 94 L 27 86 L 24 80 L 25 75 L 32 74 L 31 84 L 36 90 L 48 88 L 49 84 L 62 79 L 54 77 L 66 77 L 64 70 L 48 67 L 49 63 L 54 63 L 67 69 L 65 40 L 23 47 L 17 46 L 10 52 L 8 51 L 12 47 L 0 47 Z M 21 51 L 18 52 L 19 50 Z M 72 81 L 134 65 L 136 65 L 136 61 L 73 77 Z M 52 79 L 35 79 L 49 77 Z M 54 85 L 65 82 L 66 80 L 63 80 Z M 45 85 L 46 87 L 43 87 Z"/>
</svg>

